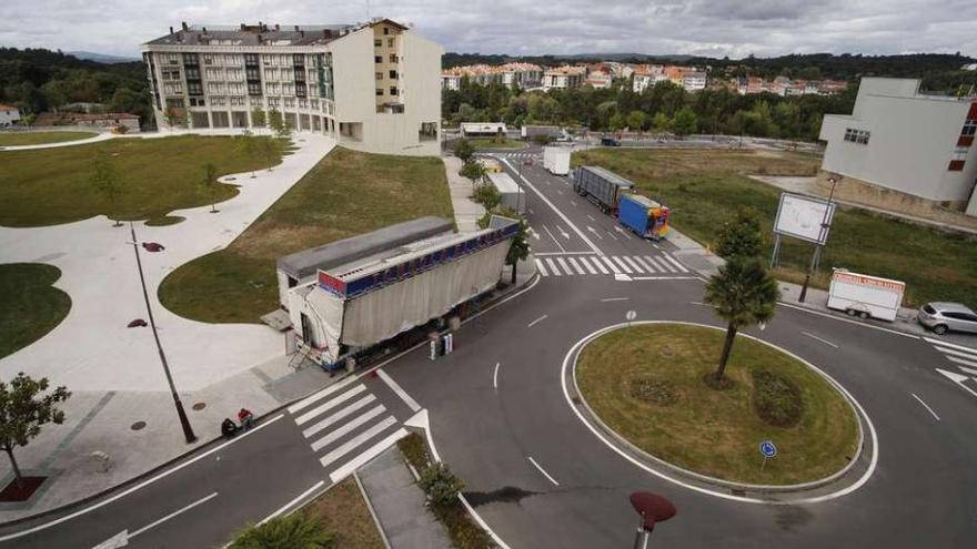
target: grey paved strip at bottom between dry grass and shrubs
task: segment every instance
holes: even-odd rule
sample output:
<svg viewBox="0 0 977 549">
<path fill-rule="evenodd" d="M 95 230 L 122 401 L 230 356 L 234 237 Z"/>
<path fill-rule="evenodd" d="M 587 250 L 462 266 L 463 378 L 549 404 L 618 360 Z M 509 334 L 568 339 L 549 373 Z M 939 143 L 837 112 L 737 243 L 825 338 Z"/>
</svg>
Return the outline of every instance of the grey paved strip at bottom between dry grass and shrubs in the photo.
<svg viewBox="0 0 977 549">
<path fill-rule="evenodd" d="M 427 510 L 424 490 L 394 446 L 357 471 L 393 549 L 450 549 L 444 527 Z"/>
</svg>

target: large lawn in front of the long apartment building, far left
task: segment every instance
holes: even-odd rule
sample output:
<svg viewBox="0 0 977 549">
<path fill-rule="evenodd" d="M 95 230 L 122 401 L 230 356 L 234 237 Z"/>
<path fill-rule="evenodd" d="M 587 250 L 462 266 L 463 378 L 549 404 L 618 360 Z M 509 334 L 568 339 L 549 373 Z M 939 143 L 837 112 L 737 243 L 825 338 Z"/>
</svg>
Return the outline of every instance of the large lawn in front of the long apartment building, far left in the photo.
<svg viewBox="0 0 977 549">
<path fill-rule="evenodd" d="M 270 139 L 270 138 L 254 138 Z M 285 143 L 275 141 L 281 161 Z M 93 159 L 104 153 L 119 174 L 122 194 L 115 207 L 90 182 Z M 34 151 L 0 151 L 0 225 L 56 225 L 108 214 L 120 220 L 153 220 L 173 210 L 211 203 L 202 189 L 204 165 L 220 175 L 268 167 L 249 157 L 238 138 L 185 135 L 158 139 L 117 139 L 78 146 Z M 238 194 L 238 187 L 218 184 L 214 201 Z"/>
</svg>

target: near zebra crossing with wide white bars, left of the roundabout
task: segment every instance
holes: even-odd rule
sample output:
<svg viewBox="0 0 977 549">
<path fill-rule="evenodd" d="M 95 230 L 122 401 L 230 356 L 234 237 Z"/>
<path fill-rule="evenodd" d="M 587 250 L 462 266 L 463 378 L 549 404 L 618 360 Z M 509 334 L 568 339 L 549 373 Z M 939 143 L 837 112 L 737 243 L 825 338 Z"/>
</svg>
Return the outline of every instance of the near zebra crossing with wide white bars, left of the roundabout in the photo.
<svg viewBox="0 0 977 549">
<path fill-rule="evenodd" d="M 379 374 L 393 384 L 385 374 Z M 302 437 L 333 482 L 407 436 L 395 411 L 390 409 L 393 405 L 384 404 L 379 396 L 384 387 L 373 385 L 367 388 L 363 379 L 350 377 L 289 407 Z M 391 389 L 400 389 L 394 385 Z M 413 408 L 410 404 L 409 407 Z"/>
</svg>

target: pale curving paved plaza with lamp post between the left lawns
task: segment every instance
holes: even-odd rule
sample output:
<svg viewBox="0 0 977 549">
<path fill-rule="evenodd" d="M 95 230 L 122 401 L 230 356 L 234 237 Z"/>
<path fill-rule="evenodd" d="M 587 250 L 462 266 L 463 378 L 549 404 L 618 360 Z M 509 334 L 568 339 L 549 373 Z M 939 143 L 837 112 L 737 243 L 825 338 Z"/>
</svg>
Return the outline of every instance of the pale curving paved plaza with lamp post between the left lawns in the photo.
<svg viewBox="0 0 977 549">
<path fill-rule="evenodd" d="M 137 226 L 140 241 L 167 246 L 162 253 L 141 255 L 160 338 L 200 437 L 197 445 L 219 436 L 221 419 L 233 417 L 241 406 L 261 415 L 333 379 L 315 368 L 293 373 L 283 336 L 266 326 L 188 321 L 163 308 L 157 297 L 167 274 L 230 244 L 334 146 L 313 134 L 298 134 L 293 141 L 298 150 L 273 171 L 259 171 L 255 179 L 250 173 L 224 177 L 242 186 L 240 194 L 218 205 L 220 213 L 209 213 L 209 206 L 181 210 L 173 214 L 187 220 L 175 225 Z M 0 359 L 0 378 L 27 372 L 73 393 L 64 406 L 64 425 L 44 428 L 17 454 L 27 471 L 58 477 L 30 505 L 0 505 L 0 521 L 97 494 L 193 447 L 177 421 L 152 333 L 127 328 L 133 318 L 145 318 L 129 240 L 128 227 L 114 228 L 104 216 L 37 228 L 0 227 L 0 263 L 59 267 L 62 276 L 54 285 L 72 301 L 68 316 L 51 333 Z M 107 470 L 91 456 L 94 451 L 109 455 Z M 0 482 L 10 476 L 3 459 Z"/>
</svg>

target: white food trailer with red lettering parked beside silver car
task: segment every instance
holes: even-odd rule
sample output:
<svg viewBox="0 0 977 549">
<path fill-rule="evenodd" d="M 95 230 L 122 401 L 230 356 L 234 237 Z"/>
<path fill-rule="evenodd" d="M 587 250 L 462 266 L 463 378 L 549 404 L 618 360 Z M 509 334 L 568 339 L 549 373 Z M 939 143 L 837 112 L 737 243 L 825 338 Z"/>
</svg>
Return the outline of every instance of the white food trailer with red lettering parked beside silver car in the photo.
<svg viewBox="0 0 977 549">
<path fill-rule="evenodd" d="M 828 308 L 862 318 L 895 321 L 906 293 L 906 283 L 836 268 L 832 275 Z"/>
</svg>

